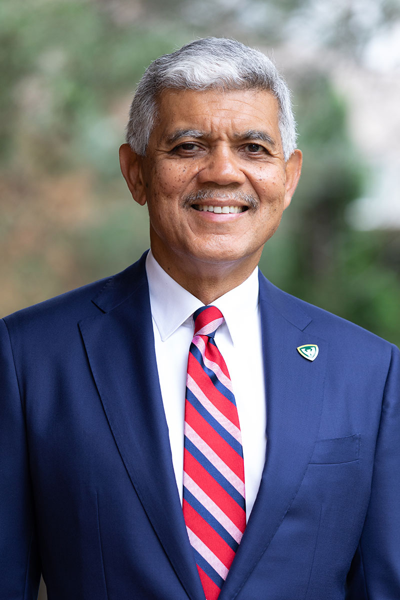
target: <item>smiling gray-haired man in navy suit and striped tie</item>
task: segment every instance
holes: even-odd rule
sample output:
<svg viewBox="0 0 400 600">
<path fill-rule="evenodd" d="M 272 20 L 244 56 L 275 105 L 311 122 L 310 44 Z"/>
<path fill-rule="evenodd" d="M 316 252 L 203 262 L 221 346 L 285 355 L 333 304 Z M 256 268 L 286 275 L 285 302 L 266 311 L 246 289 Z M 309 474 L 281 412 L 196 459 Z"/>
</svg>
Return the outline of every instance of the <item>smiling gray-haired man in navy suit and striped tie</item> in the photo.
<svg viewBox="0 0 400 600">
<path fill-rule="evenodd" d="M 151 252 L 1 323 L 1 598 L 43 571 L 49 600 L 398 600 L 398 350 L 257 272 L 300 175 L 287 86 L 194 41 L 127 141 Z"/>
</svg>

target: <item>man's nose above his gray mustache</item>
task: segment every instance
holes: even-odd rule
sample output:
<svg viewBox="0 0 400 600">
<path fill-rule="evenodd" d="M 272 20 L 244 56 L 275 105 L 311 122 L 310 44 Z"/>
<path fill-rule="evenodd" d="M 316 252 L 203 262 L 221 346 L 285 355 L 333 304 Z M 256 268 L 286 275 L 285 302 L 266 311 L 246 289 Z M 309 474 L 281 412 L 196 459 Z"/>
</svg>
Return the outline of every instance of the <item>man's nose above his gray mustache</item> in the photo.
<svg viewBox="0 0 400 600">
<path fill-rule="evenodd" d="M 231 148 L 225 146 L 215 147 L 209 152 L 205 160 L 206 163 L 197 174 L 199 183 L 218 185 L 245 183 L 245 173 L 240 169 L 239 161 Z"/>
</svg>

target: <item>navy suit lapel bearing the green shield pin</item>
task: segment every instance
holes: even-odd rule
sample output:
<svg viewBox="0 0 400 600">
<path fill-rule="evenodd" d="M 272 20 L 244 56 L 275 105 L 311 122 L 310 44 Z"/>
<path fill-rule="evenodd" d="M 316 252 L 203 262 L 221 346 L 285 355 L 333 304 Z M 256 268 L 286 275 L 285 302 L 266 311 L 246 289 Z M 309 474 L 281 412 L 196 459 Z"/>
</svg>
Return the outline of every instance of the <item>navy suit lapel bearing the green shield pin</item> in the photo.
<svg viewBox="0 0 400 600">
<path fill-rule="evenodd" d="M 266 462 L 257 499 L 220 600 L 235 598 L 296 496 L 314 449 L 323 400 L 327 343 L 307 333 L 297 301 L 260 277 L 267 403 Z M 317 344 L 314 362 L 297 352 Z"/>
</svg>

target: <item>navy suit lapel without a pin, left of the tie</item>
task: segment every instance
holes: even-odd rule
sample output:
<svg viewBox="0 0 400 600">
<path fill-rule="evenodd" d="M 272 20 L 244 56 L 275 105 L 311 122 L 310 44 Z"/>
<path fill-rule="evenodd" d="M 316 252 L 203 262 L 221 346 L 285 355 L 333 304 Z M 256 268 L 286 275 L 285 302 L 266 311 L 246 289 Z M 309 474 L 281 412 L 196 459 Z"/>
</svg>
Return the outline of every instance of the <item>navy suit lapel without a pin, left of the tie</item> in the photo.
<svg viewBox="0 0 400 600">
<path fill-rule="evenodd" d="M 103 312 L 79 326 L 104 412 L 176 574 L 190 598 L 201 598 L 158 382 L 145 257 L 110 280 L 94 303 Z"/>
</svg>

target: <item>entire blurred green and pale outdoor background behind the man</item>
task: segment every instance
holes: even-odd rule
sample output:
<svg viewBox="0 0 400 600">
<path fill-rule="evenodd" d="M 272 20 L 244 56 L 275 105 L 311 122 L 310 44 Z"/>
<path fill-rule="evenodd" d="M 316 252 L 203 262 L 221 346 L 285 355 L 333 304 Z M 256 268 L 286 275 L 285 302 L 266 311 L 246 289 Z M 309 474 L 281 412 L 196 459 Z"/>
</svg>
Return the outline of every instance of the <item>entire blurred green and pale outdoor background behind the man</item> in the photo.
<svg viewBox="0 0 400 600">
<path fill-rule="evenodd" d="M 118 164 L 131 95 L 206 35 L 257 46 L 293 90 L 303 175 L 262 271 L 400 345 L 399 0 L 2 0 L 0 316 L 148 247 Z"/>
</svg>

